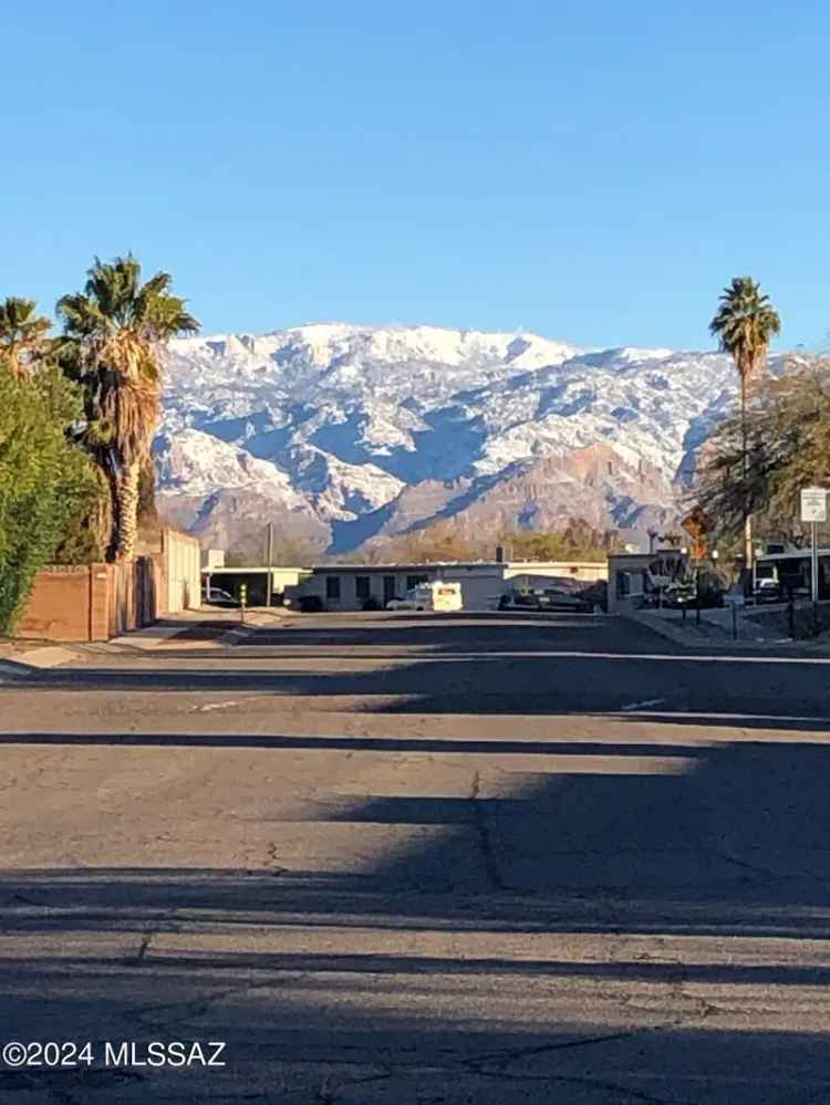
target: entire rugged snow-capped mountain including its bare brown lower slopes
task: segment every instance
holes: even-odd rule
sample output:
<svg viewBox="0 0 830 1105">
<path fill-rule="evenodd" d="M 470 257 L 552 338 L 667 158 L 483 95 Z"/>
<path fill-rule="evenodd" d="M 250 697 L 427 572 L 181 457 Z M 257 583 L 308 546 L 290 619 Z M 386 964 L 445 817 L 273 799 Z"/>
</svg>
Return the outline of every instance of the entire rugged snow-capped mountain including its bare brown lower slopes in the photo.
<svg viewBox="0 0 830 1105">
<path fill-rule="evenodd" d="M 159 505 L 205 543 L 273 521 L 349 551 L 438 518 L 642 529 L 735 402 L 717 353 L 536 334 L 299 326 L 166 351 Z"/>
</svg>

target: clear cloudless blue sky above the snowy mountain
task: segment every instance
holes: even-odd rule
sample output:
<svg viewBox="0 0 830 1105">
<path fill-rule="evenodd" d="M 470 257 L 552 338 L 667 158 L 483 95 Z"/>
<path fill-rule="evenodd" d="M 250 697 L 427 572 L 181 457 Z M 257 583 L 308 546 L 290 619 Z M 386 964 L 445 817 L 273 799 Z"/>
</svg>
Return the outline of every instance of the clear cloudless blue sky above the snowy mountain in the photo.
<svg viewBox="0 0 830 1105">
<path fill-rule="evenodd" d="M 821 344 L 828 34 L 821 2 L 15 4 L 0 295 L 132 249 L 209 332 L 703 347 L 749 273 Z"/>
</svg>

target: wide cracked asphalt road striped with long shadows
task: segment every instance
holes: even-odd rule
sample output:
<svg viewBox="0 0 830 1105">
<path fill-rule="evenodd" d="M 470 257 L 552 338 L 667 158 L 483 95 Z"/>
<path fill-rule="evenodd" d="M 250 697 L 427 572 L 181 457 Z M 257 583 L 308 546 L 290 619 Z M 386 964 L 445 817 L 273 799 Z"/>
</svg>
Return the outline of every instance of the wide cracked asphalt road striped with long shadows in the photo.
<svg viewBox="0 0 830 1105">
<path fill-rule="evenodd" d="M 0 1103 L 830 1102 L 829 674 L 377 615 L 7 681 L 2 1034 L 93 1061 Z"/>
</svg>

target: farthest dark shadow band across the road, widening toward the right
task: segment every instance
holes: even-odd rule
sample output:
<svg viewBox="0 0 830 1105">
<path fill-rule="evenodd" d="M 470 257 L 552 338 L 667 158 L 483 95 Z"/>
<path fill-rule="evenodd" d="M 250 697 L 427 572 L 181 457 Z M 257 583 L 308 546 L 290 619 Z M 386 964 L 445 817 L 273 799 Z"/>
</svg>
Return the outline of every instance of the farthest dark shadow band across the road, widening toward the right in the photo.
<svg viewBox="0 0 830 1105">
<path fill-rule="evenodd" d="M 347 659 L 347 657 L 346 657 Z M 357 670 L 279 667 L 216 669 L 206 666 L 53 668 L 6 688 L 201 694 L 256 692 L 303 698 L 315 710 L 387 713 L 566 715 L 641 709 L 723 717 L 729 724 L 785 722 L 827 727 L 830 691 L 823 669 L 774 659 L 728 660 L 682 656 L 562 653 L 520 657 L 446 656 L 396 660 Z M 345 701 L 347 700 L 347 701 Z M 710 722 L 714 723 L 714 722 Z"/>
</svg>

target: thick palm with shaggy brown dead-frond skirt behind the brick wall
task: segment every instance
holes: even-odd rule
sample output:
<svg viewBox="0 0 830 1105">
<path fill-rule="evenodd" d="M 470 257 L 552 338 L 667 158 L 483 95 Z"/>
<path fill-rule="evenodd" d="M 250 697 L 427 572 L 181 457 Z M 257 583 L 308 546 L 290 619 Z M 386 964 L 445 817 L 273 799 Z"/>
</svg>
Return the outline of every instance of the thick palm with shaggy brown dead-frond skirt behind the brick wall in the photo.
<svg viewBox="0 0 830 1105">
<path fill-rule="evenodd" d="M 58 303 L 64 340 L 59 356 L 86 396 L 86 445 L 106 475 L 113 504 L 110 555 L 133 560 L 142 466 L 151 455 L 162 407 L 159 345 L 195 333 L 196 319 L 170 292 L 168 273 L 145 284 L 132 254 L 97 258 L 83 292 Z"/>
</svg>

